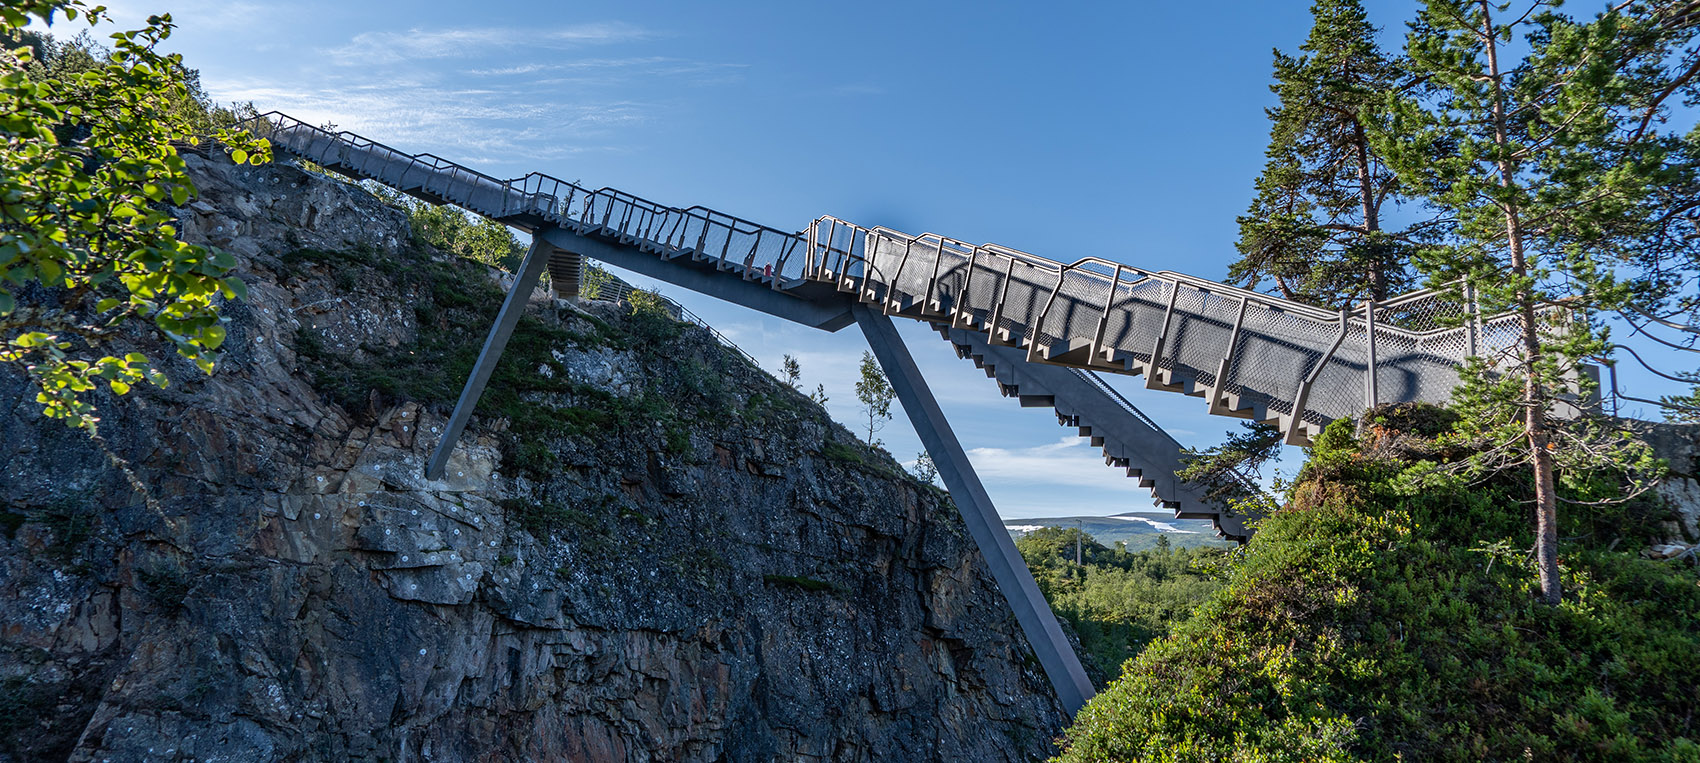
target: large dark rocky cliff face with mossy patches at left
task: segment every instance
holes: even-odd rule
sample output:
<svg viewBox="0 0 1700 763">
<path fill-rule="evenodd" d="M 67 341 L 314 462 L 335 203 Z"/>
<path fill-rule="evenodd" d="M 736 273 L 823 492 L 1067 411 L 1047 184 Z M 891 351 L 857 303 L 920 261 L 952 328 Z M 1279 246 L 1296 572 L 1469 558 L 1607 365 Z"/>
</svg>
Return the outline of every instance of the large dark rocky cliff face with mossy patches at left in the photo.
<svg viewBox="0 0 1700 763">
<path fill-rule="evenodd" d="M 1035 760 L 1061 709 L 949 498 L 665 316 L 500 294 L 291 165 L 190 156 L 216 374 L 0 376 L 0 760 Z M 150 350 L 155 357 L 167 352 Z"/>
</svg>

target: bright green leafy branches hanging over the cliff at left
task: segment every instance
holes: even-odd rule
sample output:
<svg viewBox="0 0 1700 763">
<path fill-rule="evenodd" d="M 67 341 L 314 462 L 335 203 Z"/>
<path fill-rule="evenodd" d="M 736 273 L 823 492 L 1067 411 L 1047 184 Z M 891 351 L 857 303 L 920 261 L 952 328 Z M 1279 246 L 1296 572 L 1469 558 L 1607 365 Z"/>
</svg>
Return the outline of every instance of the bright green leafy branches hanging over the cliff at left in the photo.
<svg viewBox="0 0 1700 763">
<path fill-rule="evenodd" d="M 24 29 L 54 15 L 105 20 L 76 0 L 0 8 L 0 362 L 27 374 L 44 415 L 94 435 L 97 387 L 167 382 L 158 360 L 134 352 L 126 321 L 153 323 L 211 372 L 224 342 L 219 302 L 243 296 L 228 253 L 177 240 L 167 207 L 196 187 L 175 144 L 211 134 L 255 163 L 270 146 L 214 124 L 230 112 L 206 100 L 177 54 L 156 53 L 170 15 L 114 34 L 112 49 Z"/>
</svg>

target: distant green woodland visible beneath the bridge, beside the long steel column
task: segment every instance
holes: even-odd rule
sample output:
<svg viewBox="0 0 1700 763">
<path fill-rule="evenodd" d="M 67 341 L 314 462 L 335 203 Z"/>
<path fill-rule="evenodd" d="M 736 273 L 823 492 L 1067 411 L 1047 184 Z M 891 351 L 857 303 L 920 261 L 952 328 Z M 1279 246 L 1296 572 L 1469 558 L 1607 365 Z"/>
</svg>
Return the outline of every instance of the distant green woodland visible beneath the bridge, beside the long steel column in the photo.
<svg viewBox="0 0 1700 763">
<path fill-rule="evenodd" d="M 1074 564 L 1076 540 L 1081 564 Z M 1153 551 L 1108 549 L 1061 527 L 1032 530 L 1015 547 L 1051 610 L 1080 636 L 1081 661 L 1098 688 L 1221 588 L 1214 568 L 1226 556 L 1216 547 L 1171 547 L 1168 535 L 1158 535 Z"/>
</svg>

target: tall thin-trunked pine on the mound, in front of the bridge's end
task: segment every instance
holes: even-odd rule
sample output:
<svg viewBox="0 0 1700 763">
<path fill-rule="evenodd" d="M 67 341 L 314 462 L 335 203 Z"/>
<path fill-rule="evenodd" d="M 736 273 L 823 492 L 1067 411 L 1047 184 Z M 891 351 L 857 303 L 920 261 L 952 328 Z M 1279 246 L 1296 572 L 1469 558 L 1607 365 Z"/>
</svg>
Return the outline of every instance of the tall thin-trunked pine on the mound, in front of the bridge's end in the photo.
<svg viewBox="0 0 1700 763">
<path fill-rule="evenodd" d="M 1552 5 L 1428 0 L 1406 49 L 1428 92 L 1391 95 L 1372 127 L 1401 184 L 1457 218 L 1457 243 L 1423 250 L 1423 272 L 1464 275 L 1482 311 L 1522 318 L 1515 345 L 1474 362 L 1457 399 L 1472 433 L 1499 445 L 1477 467 L 1532 471 L 1545 603 L 1562 596 L 1557 472 L 1646 461 L 1561 425 L 1554 399 L 1579 359 L 1608 348 L 1593 316 L 1646 294 L 1617 270 L 1658 246 L 1649 236 L 1669 216 L 1663 189 L 1693 173 L 1659 104 L 1681 85 L 1671 61 L 1693 59 L 1673 54 L 1692 29 L 1658 3 L 1624 3 L 1591 22 Z M 1540 318 L 1550 306 L 1572 319 Z"/>
</svg>

